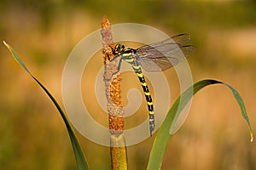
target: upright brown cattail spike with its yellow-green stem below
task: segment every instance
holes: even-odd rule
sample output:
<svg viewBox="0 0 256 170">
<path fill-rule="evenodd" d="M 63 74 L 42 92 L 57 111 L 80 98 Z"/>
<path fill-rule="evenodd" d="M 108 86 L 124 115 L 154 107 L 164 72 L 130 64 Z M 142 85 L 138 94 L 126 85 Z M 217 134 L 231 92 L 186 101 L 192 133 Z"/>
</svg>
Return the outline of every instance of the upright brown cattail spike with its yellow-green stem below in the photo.
<svg viewBox="0 0 256 170">
<path fill-rule="evenodd" d="M 108 109 L 108 126 L 110 132 L 110 153 L 111 164 L 113 170 L 125 170 L 127 166 L 127 153 L 125 144 L 124 130 L 124 111 L 121 102 L 121 89 L 120 84 L 122 77 L 117 71 L 119 59 L 114 59 L 112 62 L 109 59 L 113 55 L 113 37 L 111 32 L 111 25 L 106 16 L 102 20 L 102 43 L 103 43 L 103 59 L 104 59 L 104 82 L 107 97 Z M 113 76 L 113 77 L 112 77 Z"/>
</svg>

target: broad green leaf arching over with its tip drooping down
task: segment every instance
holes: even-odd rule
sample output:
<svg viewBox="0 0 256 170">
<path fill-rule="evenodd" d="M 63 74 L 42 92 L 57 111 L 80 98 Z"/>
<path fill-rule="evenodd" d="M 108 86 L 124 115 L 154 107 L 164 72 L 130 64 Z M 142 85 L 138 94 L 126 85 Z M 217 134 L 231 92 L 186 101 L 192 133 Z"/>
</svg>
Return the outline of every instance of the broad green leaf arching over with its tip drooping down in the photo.
<svg viewBox="0 0 256 170">
<path fill-rule="evenodd" d="M 185 105 L 187 105 L 187 103 L 192 98 L 192 96 L 195 95 L 201 88 L 205 88 L 208 85 L 217 84 L 217 83 L 224 84 L 226 87 L 230 88 L 230 90 L 234 94 L 237 103 L 240 105 L 241 115 L 247 122 L 247 126 L 251 134 L 251 142 L 253 141 L 253 130 L 250 125 L 249 118 L 247 116 L 247 111 L 244 106 L 243 100 L 241 99 L 241 96 L 240 94 L 238 94 L 236 89 L 232 88 L 230 85 L 224 82 L 218 82 L 216 80 L 202 80 L 200 82 L 195 82 L 193 86 L 189 87 L 186 91 L 184 91 L 183 94 L 181 94 L 176 99 L 170 111 L 168 111 L 166 119 L 162 123 L 159 129 L 159 132 L 157 133 L 156 138 L 154 139 L 153 148 L 150 152 L 150 156 L 148 160 L 148 167 L 147 167 L 148 170 L 160 169 L 161 163 L 163 161 L 164 153 L 166 150 L 166 145 L 171 136 L 170 131 L 171 131 L 172 124 L 174 124 L 175 120 L 177 120 L 175 117 L 177 117 L 180 114 L 180 112 L 183 110 Z"/>
</svg>

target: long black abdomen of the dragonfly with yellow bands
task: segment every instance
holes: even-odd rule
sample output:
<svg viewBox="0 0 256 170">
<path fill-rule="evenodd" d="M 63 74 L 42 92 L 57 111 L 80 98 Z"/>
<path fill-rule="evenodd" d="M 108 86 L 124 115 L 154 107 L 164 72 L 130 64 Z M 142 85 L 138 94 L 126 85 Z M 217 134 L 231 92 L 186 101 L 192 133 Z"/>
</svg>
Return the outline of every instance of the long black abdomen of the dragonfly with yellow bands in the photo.
<svg viewBox="0 0 256 170">
<path fill-rule="evenodd" d="M 150 136 L 151 136 L 154 131 L 154 105 L 148 90 L 147 82 L 143 77 L 143 71 L 142 71 L 141 65 L 139 65 L 139 63 L 134 59 L 134 57 L 132 55 L 131 57 L 126 56 L 125 60 L 132 65 L 132 68 L 136 72 L 139 81 L 142 83 L 143 92 L 145 94 L 147 104 L 148 104 L 149 130 L 150 130 Z"/>
</svg>

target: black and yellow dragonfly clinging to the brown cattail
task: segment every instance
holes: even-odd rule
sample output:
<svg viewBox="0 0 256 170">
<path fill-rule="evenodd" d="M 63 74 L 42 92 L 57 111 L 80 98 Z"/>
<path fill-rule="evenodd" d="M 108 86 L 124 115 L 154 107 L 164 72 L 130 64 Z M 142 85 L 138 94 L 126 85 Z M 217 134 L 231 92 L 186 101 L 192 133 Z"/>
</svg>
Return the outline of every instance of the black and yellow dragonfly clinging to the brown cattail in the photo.
<svg viewBox="0 0 256 170">
<path fill-rule="evenodd" d="M 141 82 L 148 105 L 150 136 L 152 136 L 155 127 L 154 103 L 143 76 L 142 68 L 148 72 L 166 71 L 172 68 L 195 52 L 194 46 L 186 45 L 189 40 L 189 34 L 179 34 L 169 37 L 164 41 L 155 42 L 137 49 L 125 48 L 125 45 L 120 43 L 116 44 L 113 48 L 114 57 L 109 59 L 109 61 L 112 62 L 114 59 L 119 59 L 117 71 L 113 75 L 120 71 L 122 60 L 125 60 L 131 64 L 133 71 L 135 71 Z"/>
</svg>

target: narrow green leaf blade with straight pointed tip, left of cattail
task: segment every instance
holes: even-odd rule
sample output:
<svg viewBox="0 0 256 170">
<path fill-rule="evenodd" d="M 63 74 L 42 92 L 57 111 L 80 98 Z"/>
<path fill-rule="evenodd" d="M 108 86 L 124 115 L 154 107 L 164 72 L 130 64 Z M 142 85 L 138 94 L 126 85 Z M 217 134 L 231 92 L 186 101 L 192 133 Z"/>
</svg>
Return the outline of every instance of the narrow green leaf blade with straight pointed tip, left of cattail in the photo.
<svg viewBox="0 0 256 170">
<path fill-rule="evenodd" d="M 61 117 L 63 119 L 63 121 L 65 122 L 65 125 L 67 127 L 67 132 L 69 134 L 70 140 L 71 140 L 71 144 L 73 146 L 73 152 L 75 155 L 75 159 L 77 162 L 77 166 L 79 170 L 87 170 L 89 169 L 88 163 L 84 158 L 84 153 L 83 150 L 81 149 L 80 145 L 79 145 L 79 141 L 76 138 L 75 134 L 73 133 L 72 127 L 70 126 L 67 117 L 65 116 L 64 112 L 61 110 L 61 106 L 57 103 L 57 101 L 55 100 L 55 98 L 49 93 L 49 91 L 47 90 L 47 88 L 44 87 L 44 85 L 38 81 L 38 79 L 36 77 L 34 77 L 32 75 L 32 73 L 26 68 L 26 65 L 23 64 L 23 62 L 20 60 L 19 56 L 15 53 L 15 50 L 13 48 L 11 48 L 9 46 L 9 44 L 7 44 L 6 42 L 3 42 L 4 45 L 9 48 L 10 53 L 14 56 L 15 60 L 18 62 L 18 64 L 36 81 L 38 82 L 38 85 L 44 89 L 44 92 L 49 96 L 49 98 L 51 99 L 51 101 L 54 103 L 55 107 L 57 108 L 57 110 L 59 111 L 59 113 L 61 114 Z"/>
</svg>

